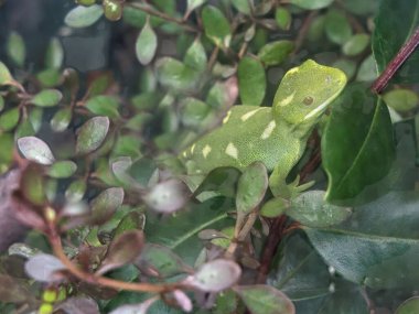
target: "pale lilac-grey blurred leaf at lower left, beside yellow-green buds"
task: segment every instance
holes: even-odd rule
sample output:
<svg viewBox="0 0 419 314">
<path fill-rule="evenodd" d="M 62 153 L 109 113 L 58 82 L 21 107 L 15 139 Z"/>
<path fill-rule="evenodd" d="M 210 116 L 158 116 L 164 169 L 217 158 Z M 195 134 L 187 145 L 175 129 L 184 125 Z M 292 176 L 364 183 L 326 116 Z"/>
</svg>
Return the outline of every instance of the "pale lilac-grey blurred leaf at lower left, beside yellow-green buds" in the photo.
<svg viewBox="0 0 419 314">
<path fill-rule="evenodd" d="M 36 255 L 24 264 L 25 272 L 36 281 L 54 282 L 61 280 L 56 271 L 65 270 L 66 267 L 54 256 Z"/>
</svg>

